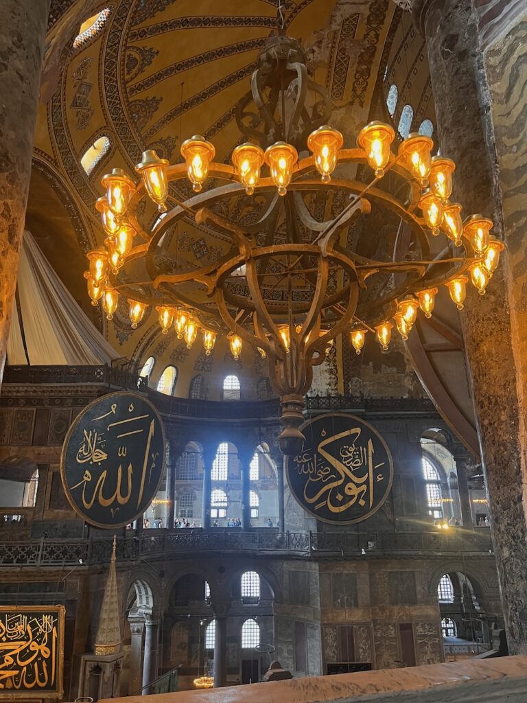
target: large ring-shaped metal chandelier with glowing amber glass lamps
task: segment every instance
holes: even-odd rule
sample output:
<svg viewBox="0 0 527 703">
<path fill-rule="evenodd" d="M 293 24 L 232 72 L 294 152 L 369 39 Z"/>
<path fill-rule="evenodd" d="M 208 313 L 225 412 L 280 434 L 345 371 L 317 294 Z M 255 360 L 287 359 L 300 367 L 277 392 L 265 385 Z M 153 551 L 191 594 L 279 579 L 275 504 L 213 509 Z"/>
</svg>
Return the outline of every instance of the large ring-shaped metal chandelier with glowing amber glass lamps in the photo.
<svg viewBox="0 0 527 703">
<path fill-rule="evenodd" d="M 461 205 L 450 202 L 455 164 L 432 157 L 431 138 L 410 134 L 395 152 L 393 127 L 371 122 L 357 147 L 345 148 L 327 126 L 330 112 L 301 44 L 279 32 L 237 106 L 238 127 L 251 141 L 233 150 L 231 165 L 215 162 L 214 145 L 193 136 L 181 144 L 181 163 L 148 150 L 138 182 L 117 168 L 104 176 L 96 207 L 107 238 L 87 254 L 84 274 L 108 319 L 124 297 L 132 328 L 155 307 L 162 333 L 188 348 L 200 335 L 211 354 L 224 334 L 234 359 L 246 343 L 268 359 L 286 455 L 301 451 L 313 366 L 338 335 L 349 334 L 358 354 L 368 334 L 387 350 L 393 328 L 406 340 L 419 309 L 431 316 L 441 286 L 458 309 L 469 280 L 483 295 L 503 249 L 490 238 L 492 221 L 463 221 Z M 330 219 L 324 207 L 315 212 L 321 199 L 340 203 Z M 141 224 L 148 208 L 150 226 Z M 370 232 L 377 254 L 366 256 L 346 236 L 367 226 L 372 209 L 391 228 Z M 177 225 L 188 219 L 214 231 L 228 251 L 182 270 Z"/>
</svg>

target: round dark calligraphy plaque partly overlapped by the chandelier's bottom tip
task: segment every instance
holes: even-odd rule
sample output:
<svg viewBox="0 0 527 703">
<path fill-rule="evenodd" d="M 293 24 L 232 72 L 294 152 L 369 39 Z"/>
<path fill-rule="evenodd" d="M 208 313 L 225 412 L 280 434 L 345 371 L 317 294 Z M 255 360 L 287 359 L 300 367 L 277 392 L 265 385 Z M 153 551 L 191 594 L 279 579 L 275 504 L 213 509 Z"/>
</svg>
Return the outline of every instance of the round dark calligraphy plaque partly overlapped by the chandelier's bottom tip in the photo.
<svg viewBox="0 0 527 703">
<path fill-rule="evenodd" d="M 304 451 L 287 459 L 287 483 L 302 508 L 332 524 L 361 522 L 386 501 L 393 461 L 381 435 L 364 420 L 334 413 L 300 428 Z"/>
</svg>

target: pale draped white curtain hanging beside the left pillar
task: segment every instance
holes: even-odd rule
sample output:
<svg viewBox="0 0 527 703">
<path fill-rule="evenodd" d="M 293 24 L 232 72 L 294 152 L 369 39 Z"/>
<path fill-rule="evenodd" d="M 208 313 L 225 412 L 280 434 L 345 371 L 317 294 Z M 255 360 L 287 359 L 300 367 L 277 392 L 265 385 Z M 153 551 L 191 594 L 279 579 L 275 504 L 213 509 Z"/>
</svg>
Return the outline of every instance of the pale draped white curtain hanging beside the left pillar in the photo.
<svg viewBox="0 0 527 703">
<path fill-rule="evenodd" d="M 17 290 L 8 339 L 9 364 L 96 366 L 119 357 L 28 231 L 22 240 Z"/>
</svg>

